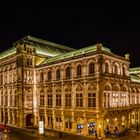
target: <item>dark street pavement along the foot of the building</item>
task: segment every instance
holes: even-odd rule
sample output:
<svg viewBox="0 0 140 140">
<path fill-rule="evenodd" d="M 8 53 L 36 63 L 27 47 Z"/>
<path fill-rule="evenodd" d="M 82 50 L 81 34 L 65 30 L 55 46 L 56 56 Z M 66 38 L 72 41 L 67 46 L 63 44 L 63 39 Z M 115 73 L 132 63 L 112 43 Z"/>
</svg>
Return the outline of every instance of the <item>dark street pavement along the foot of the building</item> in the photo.
<svg viewBox="0 0 140 140">
<path fill-rule="evenodd" d="M 22 128 L 11 128 L 11 132 L 8 135 L 3 134 L 3 138 L 0 140 L 94 140 L 93 137 L 84 137 L 80 135 L 73 135 L 68 133 L 62 133 L 61 138 L 58 132 L 47 130 L 45 135 L 38 135 L 38 130 Z M 102 140 L 140 140 L 140 133 L 132 133 L 124 137 L 119 138 L 104 138 Z"/>
</svg>

